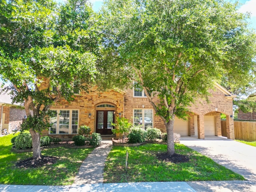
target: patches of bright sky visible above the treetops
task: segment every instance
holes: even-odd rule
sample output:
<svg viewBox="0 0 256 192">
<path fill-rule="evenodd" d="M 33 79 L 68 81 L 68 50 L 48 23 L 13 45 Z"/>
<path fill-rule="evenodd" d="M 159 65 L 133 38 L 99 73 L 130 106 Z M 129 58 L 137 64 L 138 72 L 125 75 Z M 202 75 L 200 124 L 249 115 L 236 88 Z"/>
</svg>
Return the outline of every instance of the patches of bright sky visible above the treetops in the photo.
<svg viewBox="0 0 256 192">
<path fill-rule="evenodd" d="M 64 2 L 65 0 L 56 0 L 56 2 Z M 235 0 L 233 0 L 235 1 Z M 92 8 L 94 11 L 98 11 L 100 7 L 102 6 L 103 0 L 90 0 L 92 3 Z M 239 0 L 241 4 L 243 4 L 240 8 L 240 12 L 251 13 L 251 19 L 249 22 L 251 23 L 251 26 L 256 29 L 256 0 Z"/>
</svg>

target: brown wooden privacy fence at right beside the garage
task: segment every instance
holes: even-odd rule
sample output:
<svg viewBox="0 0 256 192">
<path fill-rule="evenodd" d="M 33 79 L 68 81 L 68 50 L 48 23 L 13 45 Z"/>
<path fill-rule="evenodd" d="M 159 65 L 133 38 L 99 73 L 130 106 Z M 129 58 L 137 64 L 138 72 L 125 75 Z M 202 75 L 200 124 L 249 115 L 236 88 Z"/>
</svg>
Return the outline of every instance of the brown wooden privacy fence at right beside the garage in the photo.
<svg viewBox="0 0 256 192">
<path fill-rule="evenodd" d="M 221 121 L 222 136 L 227 136 L 226 121 Z M 256 122 L 234 120 L 235 139 L 256 141 Z"/>
</svg>

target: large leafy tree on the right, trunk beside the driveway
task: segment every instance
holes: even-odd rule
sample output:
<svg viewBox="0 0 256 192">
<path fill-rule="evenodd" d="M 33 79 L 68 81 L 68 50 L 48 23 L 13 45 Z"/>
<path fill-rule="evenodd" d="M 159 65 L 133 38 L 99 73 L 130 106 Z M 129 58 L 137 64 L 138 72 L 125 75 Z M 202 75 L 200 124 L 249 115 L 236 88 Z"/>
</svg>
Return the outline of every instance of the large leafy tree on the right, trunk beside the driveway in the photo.
<svg viewBox="0 0 256 192">
<path fill-rule="evenodd" d="M 224 0 L 106 0 L 104 47 L 122 74 L 143 88 L 167 130 L 174 154 L 174 117 L 222 74 L 255 65 L 255 34 L 238 4 Z M 154 100 L 154 96 L 158 100 Z"/>
</svg>

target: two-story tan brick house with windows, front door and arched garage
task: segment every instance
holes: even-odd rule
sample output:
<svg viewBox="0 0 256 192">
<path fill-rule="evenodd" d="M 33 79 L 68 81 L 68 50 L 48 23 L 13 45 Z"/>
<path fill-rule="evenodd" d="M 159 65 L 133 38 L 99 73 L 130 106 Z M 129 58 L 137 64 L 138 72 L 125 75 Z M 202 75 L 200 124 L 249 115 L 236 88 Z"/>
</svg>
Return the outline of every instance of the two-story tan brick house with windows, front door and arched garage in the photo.
<svg viewBox="0 0 256 192">
<path fill-rule="evenodd" d="M 198 100 L 190 107 L 188 120 L 175 118 L 174 132 L 181 136 L 221 136 L 220 113 L 227 115 L 227 136 L 234 139 L 234 122 L 232 119 L 232 99 L 234 95 L 216 84 L 215 90 L 210 90 L 210 103 Z M 156 98 L 157 99 L 157 98 Z M 141 124 L 143 128 L 156 127 L 166 132 L 164 122 L 155 115 L 154 109 L 140 89 L 108 90 L 98 92 L 92 88 L 90 93 L 77 92 L 74 101 L 60 101 L 52 106 L 56 116 L 52 117 L 51 130 L 44 135 L 62 139 L 72 138 L 78 132 L 80 125 L 90 126 L 92 132 L 105 136 L 112 135 L 111 122 L 118 117 L 125 117 L 133 124 Z"/>
</svg>

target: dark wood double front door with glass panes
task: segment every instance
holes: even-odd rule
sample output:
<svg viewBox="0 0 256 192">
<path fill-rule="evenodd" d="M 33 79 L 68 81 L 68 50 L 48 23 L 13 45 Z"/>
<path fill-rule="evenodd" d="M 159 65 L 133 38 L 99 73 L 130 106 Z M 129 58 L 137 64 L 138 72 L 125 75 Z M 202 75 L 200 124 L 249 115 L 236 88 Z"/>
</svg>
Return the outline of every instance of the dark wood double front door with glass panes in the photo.
<svg viewBox="0 0 256 192">
<path fill-rule="evenodd" d="M 112 122 L 114 122 L 114 110 L 96 111 L 96 132 L 101 135 L 112 135 Z"/>
</svg>

